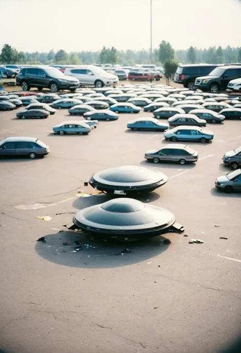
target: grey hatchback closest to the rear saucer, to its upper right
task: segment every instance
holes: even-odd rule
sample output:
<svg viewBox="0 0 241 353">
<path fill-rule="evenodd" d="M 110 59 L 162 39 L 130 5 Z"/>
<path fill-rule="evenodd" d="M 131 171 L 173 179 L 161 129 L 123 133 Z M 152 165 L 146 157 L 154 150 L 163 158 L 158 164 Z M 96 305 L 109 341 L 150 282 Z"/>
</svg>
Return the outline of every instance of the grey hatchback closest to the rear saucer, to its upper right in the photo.
<svg viewBox="0 0 241 353">
<path fill-rule="evenodd" d="M 198 152 L 187 145 L 170 144 L 162 148 L 147 151 L 144 158 L 154 163 L 179 162 L 179 164 L 184 165 L 186 162 L 196 162 L 198 160 Z"/>
</svg>

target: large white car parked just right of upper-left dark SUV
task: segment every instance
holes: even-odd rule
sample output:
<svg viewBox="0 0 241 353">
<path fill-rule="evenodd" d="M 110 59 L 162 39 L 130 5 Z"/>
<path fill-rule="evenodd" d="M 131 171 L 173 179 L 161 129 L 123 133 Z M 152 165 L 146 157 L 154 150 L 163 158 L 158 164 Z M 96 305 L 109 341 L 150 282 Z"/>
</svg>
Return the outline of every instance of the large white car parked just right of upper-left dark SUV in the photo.
<svg viewBox="0 0 241 353">
<path fill-rule="evenodd" d="M 65 69 L 65 75 L 78 78 L 80 85 L 94 85 L 95 87 L 113 86 L 118 84 L 116 75 L 108 73 L 95 65 L 85 65 Z"/>
</svg>

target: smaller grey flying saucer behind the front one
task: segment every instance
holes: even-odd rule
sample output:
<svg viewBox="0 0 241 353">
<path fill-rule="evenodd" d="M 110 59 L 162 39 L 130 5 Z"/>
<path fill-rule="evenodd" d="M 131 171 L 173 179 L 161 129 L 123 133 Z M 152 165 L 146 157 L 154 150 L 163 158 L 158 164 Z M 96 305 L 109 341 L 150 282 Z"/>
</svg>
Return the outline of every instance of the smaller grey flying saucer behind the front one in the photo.
<svg viewBox="0 0 241 353">
<path fill-rule="evenodd" d="M 153 191 L 164 185 L 168 177 L 140 166 L 121 166 L 95 173 L 89 184 L 107 194 L 127 194 Z"/>
</svg>

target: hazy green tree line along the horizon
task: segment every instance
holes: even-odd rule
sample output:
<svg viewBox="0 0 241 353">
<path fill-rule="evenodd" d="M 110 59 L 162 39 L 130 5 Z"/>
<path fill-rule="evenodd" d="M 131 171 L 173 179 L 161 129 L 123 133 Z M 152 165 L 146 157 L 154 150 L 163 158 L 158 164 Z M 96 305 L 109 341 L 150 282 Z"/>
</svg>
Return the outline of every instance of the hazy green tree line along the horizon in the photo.
<svg viewBox="0 0 241 353">
<path fill-rule="evenodd" d="M 241 63 L 241 47 L 225 48 L 209 47 L 199 49 L 190 46 L 188 49 L 174 50 L 169 42 L 162 41 L 153 52 L 154 64 L 164 65 L 166 60 L 182 64 L 195 63 Z M 67 53 L 64 49 L 49 52 L 23 52 L 17 51 L 9 44 L 5 44 L 0 55 L 2 64 L 148 64 L 150 63 L 150 51 L 142 50 L 117 50 L 114 47 L 103 47 L 100 51 L 73 51 Z"/>
</svg>

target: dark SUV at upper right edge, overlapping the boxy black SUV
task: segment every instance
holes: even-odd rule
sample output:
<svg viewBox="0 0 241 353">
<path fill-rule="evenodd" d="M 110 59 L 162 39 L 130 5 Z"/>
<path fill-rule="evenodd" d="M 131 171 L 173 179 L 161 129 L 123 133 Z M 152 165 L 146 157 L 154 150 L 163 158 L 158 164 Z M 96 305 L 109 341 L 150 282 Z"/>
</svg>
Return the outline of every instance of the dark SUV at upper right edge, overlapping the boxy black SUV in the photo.
<svg viewBox="0 0 241 353">
<path fill-rule="evenodd" d="M 195 80 L 195 87 L 202 91 L 218 93 L 219 90 L 226 90 L 231 79 L 239 77 L 241 77 L 241 65 L 223 65 L 216 67 L 216 69 L 210 72 L 207 76 L 197 77 Z"/>
</svg>

